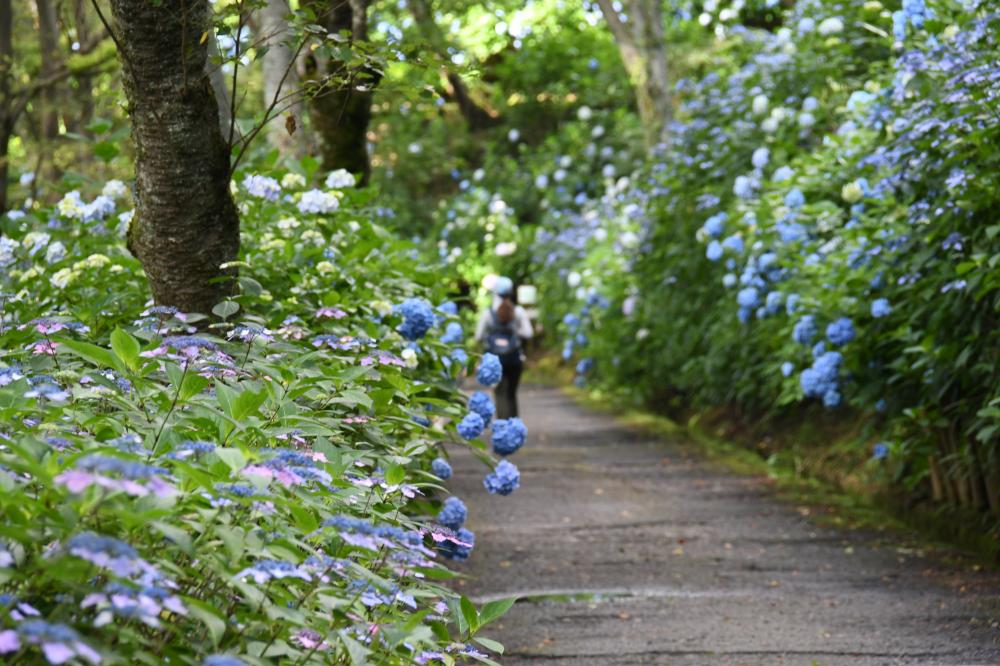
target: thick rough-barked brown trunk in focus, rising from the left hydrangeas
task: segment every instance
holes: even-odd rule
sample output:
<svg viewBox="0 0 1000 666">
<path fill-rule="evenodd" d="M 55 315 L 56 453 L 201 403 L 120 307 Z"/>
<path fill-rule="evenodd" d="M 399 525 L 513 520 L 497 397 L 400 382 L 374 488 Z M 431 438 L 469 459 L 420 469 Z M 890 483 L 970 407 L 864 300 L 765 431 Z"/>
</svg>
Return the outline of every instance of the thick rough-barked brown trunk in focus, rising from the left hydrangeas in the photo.
<svg viewBox="0 0 1000 666">
<path fill-rule="evenodd" d="M 136 149 L 128 245 L 160 305 L 208 313 L 233 293 L 239 251 L 229 150 L 206 76 L 209 0 L 112 0 Z"/>
</svg>

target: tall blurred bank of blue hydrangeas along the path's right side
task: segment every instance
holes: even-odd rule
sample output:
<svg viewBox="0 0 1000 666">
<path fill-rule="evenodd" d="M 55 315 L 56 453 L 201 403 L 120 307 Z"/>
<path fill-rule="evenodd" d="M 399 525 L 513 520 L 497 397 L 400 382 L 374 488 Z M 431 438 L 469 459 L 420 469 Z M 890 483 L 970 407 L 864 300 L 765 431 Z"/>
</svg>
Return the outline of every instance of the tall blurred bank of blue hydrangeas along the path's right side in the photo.
<svg viewBox="0 0 1000 666">
<path fill-rule="evenodd" d="M 536 151 L 559 179 L 522 163 L 466 192 L 541 202 L 518 211 L 524 275 L 581 383 L 839 410 L 865 423 L 859 465 L 997 512 L 997 22 L 974 0 L 678 3 L 671 39 L 704 60 L 675 62 L 651 156 L 580 105 L 563 138 L 585 138 Z M 446 255 L 472 196 L 445 214 Z"/>
</svg>

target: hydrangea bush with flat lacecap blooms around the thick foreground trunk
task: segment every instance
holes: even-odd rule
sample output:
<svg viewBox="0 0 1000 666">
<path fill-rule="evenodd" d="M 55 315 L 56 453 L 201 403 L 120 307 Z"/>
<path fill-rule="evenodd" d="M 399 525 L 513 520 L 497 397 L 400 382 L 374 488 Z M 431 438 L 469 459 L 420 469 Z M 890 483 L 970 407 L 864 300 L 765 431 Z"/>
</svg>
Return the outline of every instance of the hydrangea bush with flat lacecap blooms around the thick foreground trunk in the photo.
<svg viewBox="0 0 1000 666">
<path fill-rule="evenodd" d="M 434 498 L 455 310 L 366 191 L 316 177 L 237 179 L 211 318 L 145 303 L 122 183 L 2 220 L 4 661 L 492 663 L 475 634 L 510 601 L 441 582 L 475 543 Z"/>
</svg>

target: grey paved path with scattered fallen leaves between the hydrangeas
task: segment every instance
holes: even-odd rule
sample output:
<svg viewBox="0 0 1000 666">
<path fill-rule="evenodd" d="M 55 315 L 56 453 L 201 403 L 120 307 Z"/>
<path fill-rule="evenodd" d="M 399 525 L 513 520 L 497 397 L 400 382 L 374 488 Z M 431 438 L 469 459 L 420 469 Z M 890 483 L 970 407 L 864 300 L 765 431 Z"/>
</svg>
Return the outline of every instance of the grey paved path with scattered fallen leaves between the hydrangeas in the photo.
<svg viewBox="0 0 1000 666">
<path fill-rule="evenodd" d="M 994 577 L 817 527 L 692 449 L 521 395 L 521 488 L 456 456 L 476 533 L 461 591 L 524 599 L 484 630 L 504 664 L 1000 664 Z"/>
</svg>

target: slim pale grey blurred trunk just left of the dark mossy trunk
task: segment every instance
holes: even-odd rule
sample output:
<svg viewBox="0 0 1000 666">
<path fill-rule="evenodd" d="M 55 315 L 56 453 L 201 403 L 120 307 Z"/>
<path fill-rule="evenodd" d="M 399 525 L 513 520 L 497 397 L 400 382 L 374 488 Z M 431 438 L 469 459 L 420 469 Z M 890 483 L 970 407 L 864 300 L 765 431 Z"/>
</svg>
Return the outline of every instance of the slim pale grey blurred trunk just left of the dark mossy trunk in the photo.
<svg viewBox="0 0 1000 666">
<path fill-rule="evenodd" d="M 288 25 L 290 13 L 288 0 L 267 0 L 260 11 L 260 33 L 270 47 L 264 54 L 264 108 L 274 105 L 275 110 L 285 109 L 283 119 L 279 117 L 268 122 L 267 142 L 282 157 L 298 159 L 305 154 L 302 104 L 297 100 L 282 101 L 288 95 L 297 94 L 299 88 L 295 50 L 288 43 L 292 36 Z"/>
</svg>

